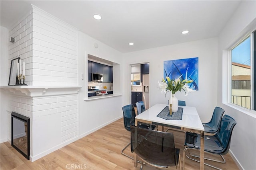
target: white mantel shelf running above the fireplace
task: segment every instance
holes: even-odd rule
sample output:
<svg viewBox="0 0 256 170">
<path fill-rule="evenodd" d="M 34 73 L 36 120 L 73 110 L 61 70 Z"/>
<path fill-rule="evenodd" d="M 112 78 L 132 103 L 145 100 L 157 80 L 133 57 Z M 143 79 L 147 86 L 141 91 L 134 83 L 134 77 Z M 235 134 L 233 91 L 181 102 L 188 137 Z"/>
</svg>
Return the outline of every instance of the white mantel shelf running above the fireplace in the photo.
<svg viewBox="0 0 256 170">
<path fill-rule="evenodd" d="M 78 94 L 82 86 L 0 86 L 14 95 L 39 97 Z"/>
</svg>

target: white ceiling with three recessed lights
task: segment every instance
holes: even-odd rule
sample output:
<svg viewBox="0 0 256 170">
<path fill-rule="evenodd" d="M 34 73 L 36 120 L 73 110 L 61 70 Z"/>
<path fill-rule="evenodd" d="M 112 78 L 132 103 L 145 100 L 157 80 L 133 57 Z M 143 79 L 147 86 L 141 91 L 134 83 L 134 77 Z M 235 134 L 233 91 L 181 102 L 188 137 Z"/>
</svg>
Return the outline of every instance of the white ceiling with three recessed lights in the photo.
<svg viewBox="0 0 256 170">
<path fill-rule="evenodd" d="M 1 26 L 12 27 L 33 4 L 94 39 L 128 53 L 217 37 L 240 2 L 1 0 Z M 100 14 L 102 20 L 94 20 L 93 14 Z M 182 35 L 184 30 L 190 32 Z M 134 45 L 128 45 L 130 42 Z"/>
</svg>

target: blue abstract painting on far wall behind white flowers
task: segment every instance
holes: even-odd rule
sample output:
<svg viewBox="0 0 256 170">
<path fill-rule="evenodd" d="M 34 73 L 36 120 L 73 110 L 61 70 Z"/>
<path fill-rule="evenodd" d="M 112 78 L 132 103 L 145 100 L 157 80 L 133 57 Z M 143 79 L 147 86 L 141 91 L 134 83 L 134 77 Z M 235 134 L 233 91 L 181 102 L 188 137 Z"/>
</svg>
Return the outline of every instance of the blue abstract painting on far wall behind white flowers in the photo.
<svg viewBox="0 0 256 170">
<path fill-rule="evenodd" d="M 180 80 L 193 80 L 188 86 L 198 90 L 198 57 L 164 61 L 164 79 L 166 76 L 173 80 L 178 77 Z"/>
</svg>

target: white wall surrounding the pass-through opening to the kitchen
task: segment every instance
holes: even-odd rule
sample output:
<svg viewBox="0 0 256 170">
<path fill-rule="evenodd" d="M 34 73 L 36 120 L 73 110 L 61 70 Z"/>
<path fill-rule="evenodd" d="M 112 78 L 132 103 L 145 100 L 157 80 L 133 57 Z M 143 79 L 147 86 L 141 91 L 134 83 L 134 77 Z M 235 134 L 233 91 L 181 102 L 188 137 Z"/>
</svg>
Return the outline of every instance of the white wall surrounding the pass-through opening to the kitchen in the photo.
<svg viewBox="0 0 256 170">
<path fill-rule="evenodd" d="M 98 44 L 98 48 L 94 47 Z M 79 106 L 79 135 L 83 137 L 93 131 L 104 127 L 108 123 L 121 118 L 122 96 L 102 98 L 97 100 L 84 100 L 88 92 L 88 66 L 87 54 L 112 61 L 113 64 L 113 91 L 121 94 L 122 81 L 122 54 L 111 47 L 78 31 L 78 83 L 82 88 L 78 95 Z M 84 74 L 84 80 L 81 79 Z M 130 77 L 130 76 L 129 76 Z"/>
</svg>

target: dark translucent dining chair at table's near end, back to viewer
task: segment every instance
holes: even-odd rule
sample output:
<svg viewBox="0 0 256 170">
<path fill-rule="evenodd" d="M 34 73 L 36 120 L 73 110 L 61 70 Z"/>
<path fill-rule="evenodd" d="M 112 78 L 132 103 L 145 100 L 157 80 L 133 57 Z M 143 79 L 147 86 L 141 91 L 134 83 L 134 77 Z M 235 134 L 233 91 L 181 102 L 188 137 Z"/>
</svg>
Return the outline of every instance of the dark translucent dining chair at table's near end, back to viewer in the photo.
<svg viewBox="0 0 256 170">
<path fill-rule="evenodd" d="M 157 168 L 180 166 L 180 149 L 175 148 L 172 133 L 131 125 L 131 143 L 132 152 L 142 159 L 140 170 L 144 162 Z"/>
</svg>

